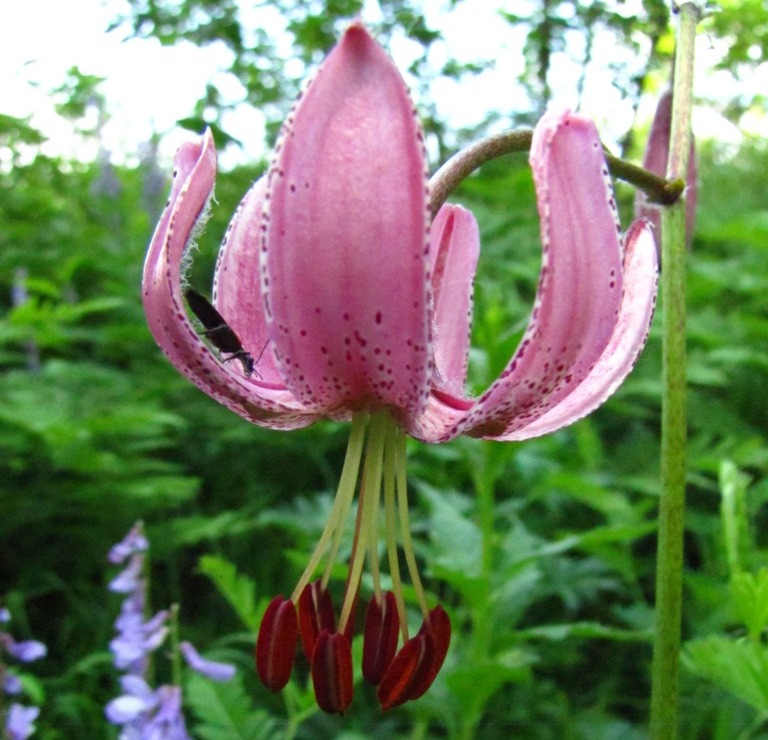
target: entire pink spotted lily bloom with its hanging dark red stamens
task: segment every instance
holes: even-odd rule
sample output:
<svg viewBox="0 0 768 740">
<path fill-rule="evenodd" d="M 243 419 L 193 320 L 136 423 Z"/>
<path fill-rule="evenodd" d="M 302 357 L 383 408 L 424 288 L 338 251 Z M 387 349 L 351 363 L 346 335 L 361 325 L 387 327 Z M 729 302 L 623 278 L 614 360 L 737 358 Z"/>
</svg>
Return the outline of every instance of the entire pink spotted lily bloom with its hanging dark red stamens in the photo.
<svg viewBox="0 0 768 740">
<path fill-rule="evenodd" d="M 264 615 L 257 669 L 271 690 L 281 689 L 300 640 L 320 707 L 345 711 L 367 559 L 373 597 L 363 676 L 388 709 L 429 688 L 451 631 L 442 607 L 427 603 L 410 541 L 406 435 L 522 440 L 595 409 L 644 344 L 656 295 L 653 238 L 638 222 L 620 239 L 594 125 L 570 113 L 544 116 L 531 148 L 544 248 L 536 302 L 515 355 L 472 398 L 465 381 L 477 224 L 456 205 L 431 218 L 421 126 L 400 74 L 361 24 L 349 27 L 300 97 L 268 174 L 229 226 L 213 284 L 213 305 L 231 331 L 228 351 L 209 346 L 212 327 L 197 330 L 182 298 L 182 264 L 210 198 L 215 160 L 210 132 L 176 156 L 144 268 L 155 339 L 192 382 L 251 422 L 291 429 L 320 418 L 352 421 L 328 525 L 291 596 L 276 597 Z M 262 356 L 245 372 L 228 361 L 234 352 Z M 337 612 L 327 585 L 356 490 L 353 553 Z M 380 575 L 380 508 L 391 592 Z M 423 616 L 414 636 L 400 549 Z"/>
</svg>

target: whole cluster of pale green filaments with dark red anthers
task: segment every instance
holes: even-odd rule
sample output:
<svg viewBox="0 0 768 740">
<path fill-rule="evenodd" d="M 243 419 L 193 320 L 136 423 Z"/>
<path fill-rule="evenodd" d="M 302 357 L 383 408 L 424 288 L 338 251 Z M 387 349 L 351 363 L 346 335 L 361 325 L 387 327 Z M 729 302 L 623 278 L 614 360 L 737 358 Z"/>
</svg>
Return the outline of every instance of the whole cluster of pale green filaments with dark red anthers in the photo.
<svg viewBox="0 0 768 740">
<path fill-rule="evenodd" d="M 351 642 L 363 564 L 373 581 L 373 598 L 365 618 L 363 677 L 378 687 L 383 709 L 417 699 L 442 666 L 451 637 L 448 615 L 441 606 L 427 607 L 408 523 L 406 438 L 389 412 L 357 413 L 352 419 L 344 468 L 331 514 L 309 564 L 289 600 L 275 597 L 264 614 L 256 643 L 256 667 L 272 691 L 290 678 L 299 635 L 311 667 L 315 697 L 321 709 L 344 712 L 352 701 Z M 360 470 L 362 462 L 362 472 Z M 355 537 L 344 601 L 338 624 L 327 590 L 360 481 Z M 379 562 L 380 510 L 392 591 L 381 587 Z M 424 621 L 408 636 L 398 547 L 402 548 Z M 310 582 L 323 556 L 322 577 Z M 398 634 L 403 645 L 397 651 Z"/>
</svg>

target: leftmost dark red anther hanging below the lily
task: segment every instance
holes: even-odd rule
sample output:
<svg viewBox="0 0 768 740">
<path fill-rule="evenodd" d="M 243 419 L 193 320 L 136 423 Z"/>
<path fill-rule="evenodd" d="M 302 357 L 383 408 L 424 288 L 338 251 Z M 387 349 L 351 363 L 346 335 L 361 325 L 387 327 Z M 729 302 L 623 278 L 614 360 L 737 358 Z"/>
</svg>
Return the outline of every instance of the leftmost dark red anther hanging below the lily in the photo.
<svg viewBox="0 0 768 740">
<path fill-rule="evenodd" d="M 256 638 L 256 670 L 270 691 L 280 691 L 288 683 L 298 639 L 299 620 L 293 602 L 275 596 L 264 612 Z"/>
</svg>

